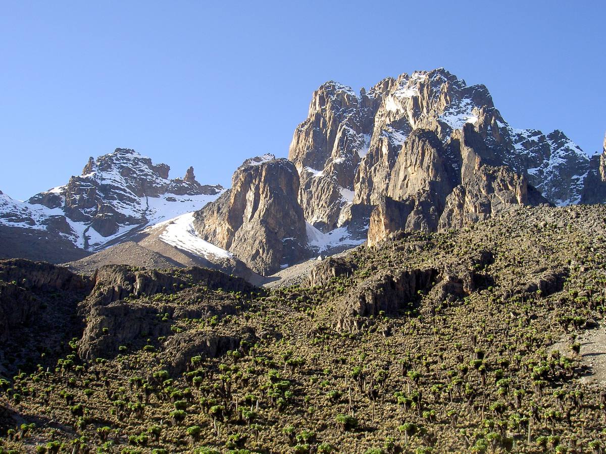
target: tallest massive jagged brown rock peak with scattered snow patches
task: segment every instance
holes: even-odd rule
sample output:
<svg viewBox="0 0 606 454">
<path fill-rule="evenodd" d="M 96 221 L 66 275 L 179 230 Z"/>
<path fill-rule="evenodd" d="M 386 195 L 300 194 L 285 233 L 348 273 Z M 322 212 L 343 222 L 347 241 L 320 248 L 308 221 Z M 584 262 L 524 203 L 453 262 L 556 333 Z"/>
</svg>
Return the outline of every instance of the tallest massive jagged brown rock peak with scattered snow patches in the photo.
<svg viewBox="0 0 606 454">
<path fill-rule="evenodd" d="M 308 222 L 324 232 L 350 226 L 352 207 L 364 206 L 370 242 L 385 229 L 433 231 L 524 205 L 578 203 L 589 168 L 564 133 L 511 128 L 484 85 L 442 68 L 359 95 L 327 82 L 289 157 Z"/>
</svg>

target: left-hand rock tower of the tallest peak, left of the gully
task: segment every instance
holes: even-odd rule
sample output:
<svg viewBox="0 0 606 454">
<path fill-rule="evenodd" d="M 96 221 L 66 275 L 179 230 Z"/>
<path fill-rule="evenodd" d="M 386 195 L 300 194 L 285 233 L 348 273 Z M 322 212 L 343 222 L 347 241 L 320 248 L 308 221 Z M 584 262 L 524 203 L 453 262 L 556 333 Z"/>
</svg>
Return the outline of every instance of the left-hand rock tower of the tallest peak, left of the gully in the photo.
<svg viewBox="0 0 606 454">
<path fill-rule="evenodd" d="M 305 219 L 321 231 L 338 226 L 339 212 L 352 202 L 356 168 L 368 148 L 375 97 L 358 97 L 349 87 L 327 82 L 313 93 L 307 120 L 288 151 L 301 178 L 298 194 Z"/>
</svg>

